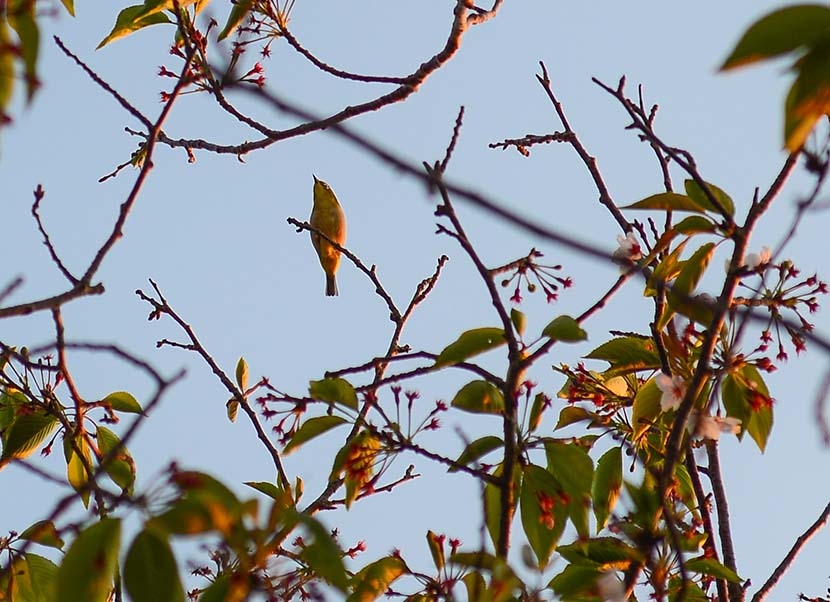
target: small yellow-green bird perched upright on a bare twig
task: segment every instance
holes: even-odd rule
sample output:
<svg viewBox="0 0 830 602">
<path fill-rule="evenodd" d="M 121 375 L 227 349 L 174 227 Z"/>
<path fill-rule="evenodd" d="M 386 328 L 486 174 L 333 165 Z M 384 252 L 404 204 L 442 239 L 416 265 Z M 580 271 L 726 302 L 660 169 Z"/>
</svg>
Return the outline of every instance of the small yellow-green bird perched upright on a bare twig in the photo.
<svg viewBox="0 0 830 602">
<path fill-rule="evenodd" d="M 346 244 L 346 216 L 343 208 L 337 202 L 331 186 L 318 180 L 314 176 L 314 207 L 311 210 L 309 223 L 320 232 L 328 236 L 339 245 Z M 329 241 L 317 234 L 311 233 L 311 244 L 320 257 L 320 265 L 326 273 L 326 296 L 337 296 L 337 280 L 335 274 L 340 265 L 340 250 L 335 249 Z"/>
</svg>

